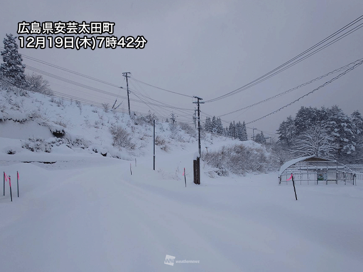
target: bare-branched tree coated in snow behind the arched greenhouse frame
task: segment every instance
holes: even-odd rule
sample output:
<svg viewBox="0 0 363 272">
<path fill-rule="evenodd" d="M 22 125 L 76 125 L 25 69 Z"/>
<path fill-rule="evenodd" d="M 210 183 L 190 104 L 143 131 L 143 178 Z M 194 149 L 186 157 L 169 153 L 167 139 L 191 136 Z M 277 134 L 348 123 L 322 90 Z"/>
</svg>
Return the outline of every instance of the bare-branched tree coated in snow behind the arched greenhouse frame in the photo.
<svg viewBox="0 0 363 272">
<path fill-rule="evenodd" d="M 336 150 L 337 145 L 329 133 L 329 125 L 319 122 L 300 134 L 291 152 L 296 156 L 334 158 Z"/>
</svg>

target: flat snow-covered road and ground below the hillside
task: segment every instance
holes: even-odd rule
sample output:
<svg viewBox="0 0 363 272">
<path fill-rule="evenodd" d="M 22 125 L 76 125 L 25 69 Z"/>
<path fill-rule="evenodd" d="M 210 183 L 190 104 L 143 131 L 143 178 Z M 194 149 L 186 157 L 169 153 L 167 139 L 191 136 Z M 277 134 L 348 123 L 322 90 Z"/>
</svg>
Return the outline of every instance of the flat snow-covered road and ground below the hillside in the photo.
<svg viewBox="0 0 363 272">
<path fill-rule="evenodd" d="M 1 271 L 359 271 L 363 187 L 278 186 L 276 173 L 181 173 L 192 155 L 21 174 L 20 198 L 0 195 Z M 102 160 L 102 158 L 100 158 Z M 161 168 L 160 166 L 163 166 Z M 53 168 L 52 168 L 53 167 Z M 179 172 L 177 171 L 180 168 Z M 165 171 L 160 171 L 164 169 Z M 166 169 L 172 169 L 179 180 Z M 175 170 L 175 171 L 174 171 Z M 162 178 L 164 176 L 164 178 Z M 175 256 L 174 265 L 164 264 Z M 176 263 L 198 260 L 199 263 Z"/>
</svg>

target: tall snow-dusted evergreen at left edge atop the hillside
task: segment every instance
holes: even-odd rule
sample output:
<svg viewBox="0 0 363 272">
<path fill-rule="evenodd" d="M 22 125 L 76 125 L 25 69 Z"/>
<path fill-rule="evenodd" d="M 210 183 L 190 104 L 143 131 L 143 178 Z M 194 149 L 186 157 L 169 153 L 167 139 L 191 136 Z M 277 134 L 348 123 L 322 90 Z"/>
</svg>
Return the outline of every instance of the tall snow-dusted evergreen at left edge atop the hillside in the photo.
<svg viewBox="0 0 363 272">
<path fill-rule="evenodd" d="M 3 62 L 0 65 L 0 75 L 9 80 L 11 84 L 18 88 L 25 87 L 25 65 L 23 58 L 18 52 L 18 44 L 13 34 L 6 34 L 4 38 L 4 51 L 1 51 Z"/>
</svg>

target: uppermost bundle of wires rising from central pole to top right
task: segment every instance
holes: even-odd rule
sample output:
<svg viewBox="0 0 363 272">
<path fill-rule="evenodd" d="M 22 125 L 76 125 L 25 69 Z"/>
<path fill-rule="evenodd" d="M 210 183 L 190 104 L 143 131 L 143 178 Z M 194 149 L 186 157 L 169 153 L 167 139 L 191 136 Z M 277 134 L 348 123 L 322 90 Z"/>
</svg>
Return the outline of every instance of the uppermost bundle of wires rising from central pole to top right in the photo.
<svg viewBox="0 0 363 272">
<path fill-rule="evenodd" d="M 346 26 L 342 27 L 341 29 L 339 29 L 338 31 L 334 32 L 333 34 L 331 34 L 330 36 L 328 36 L 327 38 L 325 38 L 324 40 L 318 42 L 317 44 L 313 45 L 312 47 L 310 47 L 309 49 L 305 50 L 304 52 L 298 54 L 297 56 L 293 57 L 292 59 L 286 61 L 285 63 L 281 64 L 280 66 L 276 67 L 274 70 L 266 73 L 265 75 L 259 77 L 258 79 L 240 87 L 240 88 L 237 88 L 229 93 L 226 93 L 222 96 L 219 96 L 219 97 L 216 97 L 216 98 L 213 98 L 213 99 L 210 99 L 210 100 L 206 100 L 205 103 L 209 103 L 209 102 L 214 102 L 214 101 L 217 101 L 217 100 L 220 100 L 220 99 L 223 99 L 223 98 L 226 98 L 226 97 L 229 97 L 231 95 L 234 95 L 234 94 L 237 94 L 241 91 L 244 91 L 248 88 L 251 88 L 252 86 L 255 86 L 256 84 L 258 83 L 261 83 L 269 78 L 271 78 L 272 76 L 275 76 L 279 73 L 281 73 L 282 71 L 286 70 L 288 67 L 291 67 L 293 65 L 295 65 L 296 63 L 306 59 L 307 57 L 309 56 L 312 56 L 313 54 L 319 52 L 320 50 L 326 48 L 327 46 L 335 43 L 336 41 L 340 40 L 341 38 L 344 38 L 345 36 L 353 33 L 354 31 L 358 30 L 359 28 L 361 28 L 363 26 L 363 24 L 360 24 L 358 26 L 356 26 L 355 28 L 349 30 L 348 32 L 340 35 L 338 38 L 335 38 L 334 40 L 330 41 L 328 44 L 326 45 L 323 45 L 321 48 L 318 48 L 316 49 L 315 51 L 309 53 L 307 56 L 304 56 L 302 57 L 301 59 L 298 59 L 299 57 L 301 57 L 302 55 L 308 53 L 309 51 L 315 49 L 316 47 L 320 46 L 321 44 L 323 44 L 324 42 L 328 41 L 329 39 L 333 38 L 334 36 L 338 35 L 339 33 L 343 32 L 344 30 L 346 30 L 347 28 L 351 27 L 352 25 L 356 24 L 357 22 L 359 22 L 360 20 L 363 19 L 363 15 L 359 16 L 357 19 L 355 19 L 354 21 L 350 22 L 349 24 L 347 24 Z M 298 59 L 298 60 L 296 60 Z M 296 60 L 296 61 L 295 61 Z M 292 62 L 292 63 L 290 63 Z M 289 64 L 290 63 L 290 64 Z M 284 67 L 286 66 L 287 64 L 289 64 L 287 67 Z M 284 67 L 284 68 L 283 68 Z M 283 69 L 282 69 L 283 68 Z"/>
</svg>

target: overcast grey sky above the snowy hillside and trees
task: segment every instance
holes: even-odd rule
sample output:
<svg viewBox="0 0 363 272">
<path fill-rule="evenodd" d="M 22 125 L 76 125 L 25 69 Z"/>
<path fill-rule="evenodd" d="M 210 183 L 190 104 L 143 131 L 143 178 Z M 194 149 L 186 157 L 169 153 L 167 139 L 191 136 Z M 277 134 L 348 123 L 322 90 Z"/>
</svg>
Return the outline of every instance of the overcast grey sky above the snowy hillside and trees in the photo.
<svg viewBox="0 0 363 272">
<path fill-rule="evenodd" d="M 114 22 L 115 36 L 143 35 L 148 41 L 145 48 L 96 48 L 94 51 L 24 48 L 19 51 L 112 84 L 126 87 L 122 73 L 131 72 L 135 79 L 143 82 L 209 100 L 259 78 L 361 15 L 361 0 L 6 1 L 2 4 L 0 37 L 2 40 L 6 33 L 17 35 L 18 22 L 22 21 Z M 204 113 L 220 115 L 248 106 L 362 58 L 362 41 L 363 28 L 263 83 L 206 103 L 201 107 L 203 119 Z M 107 92 L 126 95 L 125 90 L 85 80 L 26 58 L 24 63 Z M 275 133 L 279 123 L 288 115 L 294 115 L 301 106 L 337 104 L 347 114 L 356 109 L 363 113 L 362 66 L 294 105 L 248 126 Z M 222 119 L 252 121 L 337 75 Z M 114 102 L 114 97 L 47 79 L 55 91 L 97 102 Z M 194 109 L 191 98 L 145 85 L 141 85 L 141 89 L 135 81 L 131 82 L 132 90 L 167 104 Z M 133 91 L 131 98 L 138 99 Z M 126 100 L 124 105 L 127 108 Z M 141 112 L 149 110 L 145 104 L 133 101 L 131 108 Z M 171 109 L 153 108 L 165 116 L 171 113 Z M 176 114 L 180 119 L 187 119 L 187 113 Z M 248 133 L 251 135 L 252 131 L 249 129 Z"/>
</svg>

